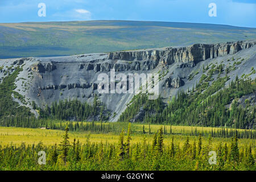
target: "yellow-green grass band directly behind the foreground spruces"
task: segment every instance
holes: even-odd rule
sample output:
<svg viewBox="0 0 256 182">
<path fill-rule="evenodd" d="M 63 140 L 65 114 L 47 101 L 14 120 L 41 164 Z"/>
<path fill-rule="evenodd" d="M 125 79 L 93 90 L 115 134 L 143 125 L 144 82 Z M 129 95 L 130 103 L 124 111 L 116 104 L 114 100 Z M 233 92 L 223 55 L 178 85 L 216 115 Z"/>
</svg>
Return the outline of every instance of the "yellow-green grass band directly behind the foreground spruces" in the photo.
<svg viewBox="0 0 256 182">
<path fill-rule="evenodd" d="M 135 124 L 136 125 L 136 124 Z M 181 126 L 180 126 L 181 127 Z M 189 126 L 185 127 L 188 128 Z M 152 125 L 152 128 L 155 130 L 158 129 L 158 126 Z M 176 127 L 174 127 L 175 129 Z M 183 126 L 181 127 L 183 129 Z M 180 129 L 177 127 L 177 129 Z M 37 144 L 39 142 L 43 142 L 47 146 L 53 145 L 55 143 L 59 144 L 63 139 L 64 131 L 61 130 L 45 130 L 45 129 L 27 129 L 27 128 L 18 128 L 18 127 L 0 127 L 0 144 L 1 146 L 7 145 L 20 145 L 22 142 L 25 144 Z M 143 137 L 146 137 L 147 142 L 152 143 L 154 135 L 149 134 L 132 134 L 131 144 L 142 142 Z M 175 144 L 179 144 L 182 146 L 186 136 L 184 135 L 164 135 L 164 144 L 168 146 L 171 143 L 172 137 L 174 137 Z M 108 133 L 108 134 L 96 134 L 96 133 L 78 133 L 78 132 L 69 132 L 69 141 L 72 142 L 73 139 L 79 139 L 81 143 L 86 143 L 86 140 L 95 143 L 117 143 L 119 135 Z M 126 138 L 125 138 L 126 139 Z M 190 137 L 190 142 L 192 143 L 194 140 L 197 141 L 197 137 Z M 212 144 L 213 147 L 217 147 L 217 145 L 222 143 L 230 143 L 231 138 L 213 138 Z M 203 145 L 208 143 L 208 137 L 203 137 Z M 239 145 L 249 145 L 252 144 L 253 148 L 255 148 L 255 140 L 253 139 L 239 139 Z"/>
</svg>

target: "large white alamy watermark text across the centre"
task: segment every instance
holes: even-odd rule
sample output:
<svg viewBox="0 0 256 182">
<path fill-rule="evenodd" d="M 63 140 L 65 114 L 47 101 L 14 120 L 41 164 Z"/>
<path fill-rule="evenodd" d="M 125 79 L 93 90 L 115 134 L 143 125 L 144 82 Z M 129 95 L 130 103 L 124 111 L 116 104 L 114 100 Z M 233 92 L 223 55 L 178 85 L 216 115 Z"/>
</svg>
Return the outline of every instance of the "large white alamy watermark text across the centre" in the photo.
<svg viewBox="0 0 256 182">
<path fill-rule="evenodd" d="M 98 75 L 98 93 L 148 93 L 149 100 L 159 96 L 159 74 L 154 73 L 118 73 L 110 70 L 110 78 L 106 73 Z"/>
</svg>

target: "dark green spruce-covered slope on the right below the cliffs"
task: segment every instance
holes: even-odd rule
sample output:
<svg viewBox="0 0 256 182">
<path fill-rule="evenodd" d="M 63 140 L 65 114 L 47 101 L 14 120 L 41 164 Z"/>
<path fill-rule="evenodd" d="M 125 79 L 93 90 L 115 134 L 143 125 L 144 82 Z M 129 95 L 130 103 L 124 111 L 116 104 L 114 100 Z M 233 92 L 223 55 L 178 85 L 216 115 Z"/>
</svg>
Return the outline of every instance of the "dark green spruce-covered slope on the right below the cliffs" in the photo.
<svg viewBox="0 0 256 182">
<path fill-rule="evenodd" d="M 163 106 L 160 97 L 152 101 L 144 94 L 138 94 L 122 113 L 119 121 L 130 121 L 138 113 L 139 108 L 143 107 L 146 114 L 140 121 L 149 123 L 254 129 L 255 105 L 251 106 L 247 102 L 243 108 L 238 105 L 237 99 L 256 92 L 255 80 L 239 80 L 237 77 L 236 81 L 231 81 L 229 86 L 225 87 L 228 77 L 218 78 L 210 86 L 209 81 L 203 82 L 205 79 L 207 77 L 202 76 L 202 81 L 187 93 L 181 91 L 166 107 Z M 232 105 L 229 108 L 227 105 L 230 103 Z"/>
</svg>

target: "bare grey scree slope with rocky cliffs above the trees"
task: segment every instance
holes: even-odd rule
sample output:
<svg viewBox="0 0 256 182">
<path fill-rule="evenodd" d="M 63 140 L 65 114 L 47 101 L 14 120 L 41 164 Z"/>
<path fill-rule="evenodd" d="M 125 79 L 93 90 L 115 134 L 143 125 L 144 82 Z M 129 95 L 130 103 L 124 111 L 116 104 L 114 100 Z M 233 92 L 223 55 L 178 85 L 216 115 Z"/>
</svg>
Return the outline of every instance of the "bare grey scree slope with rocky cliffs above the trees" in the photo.
<svg viewBox="0 0 256 182">
<path fill-rule="evenodd" d="M 66 98 L 92 102 L 94 94 L 111 111 L 110 121 L 117 121 L 134 94 L 98 94 L 97 77 L 100 73 L 110 76 L 110 69 L 117 73 L 159 73 L 159 93 L 167 102 L 181 89 L 187 90 L 199 82 L 203 67 L 222 64 L 232 68 L 230 80 L 236 76 L 248 75 L 256 66 L 256 41 L 239 41 L 219 44 L 193 44 L 188 47 L 166 47 L 92 53 L 63 57 L 28 57 L 0 61 L 0 78 L 6 70 L 14 71 L 22 66 L 23 71 L 15 80 L 15 91 L 23 96 L 23 101 L 14 98 L 20 105 L 31 108 L 35 101 L 39 107 Z M 217 73 L 213 78 L 217 77 Z M 228 82 L 226 85 L 228 85 Z M 95 119 L 95 118 L 94 118 Z"/>
</svg>

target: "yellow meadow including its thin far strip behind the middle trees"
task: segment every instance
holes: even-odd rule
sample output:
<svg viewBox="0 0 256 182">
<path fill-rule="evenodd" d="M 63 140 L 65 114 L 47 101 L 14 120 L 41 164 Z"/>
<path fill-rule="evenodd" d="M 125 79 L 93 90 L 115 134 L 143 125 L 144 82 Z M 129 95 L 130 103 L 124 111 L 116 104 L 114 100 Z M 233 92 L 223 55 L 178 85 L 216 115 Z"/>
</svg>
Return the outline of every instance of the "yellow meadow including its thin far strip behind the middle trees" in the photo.
<svg viewBox="0 0 256 182">
<path fill-rule="evenodd" d="M 96 122 L 96 125 L 100 125 L 100 122 Z M 107 125 L 108 123 L 102 123 L 102 125 Z M 128 123 L 119 123 L 123 128 L 125 129 L 125 132 L 128 127 Z M 118 125 L 118 123 L 117 123 Z M 146 134 L 141 134 L 141 131 L 143 130 Z M 146 137 L 147 141 L 149 143 L 152 143 L 152 140 L 154 138 L 154 133 L 156 133 L 160 127 L 166 127 L 167 133 L 164 135 L 164 144 L 168 146 L 168 144 L 171 143 L 172 137 L 174 137 L 175 143 L 179 144 L 181 147 L 183 143 L 185 142 L 187 136 L 184 135 L 184 132 L 190 133 L 192 130 L 197 130 L 199 133 L 205 132 L 205 131 L 213 131 L 217 130 L 218 128 L 214 127 L 192 127 L 192 126 L 164 126 L 164 125 L 150 125 L 151 127 L 151 134 L 148 134 L 148 125 L 143 125 L 140 123 L 133 123 L 131 124 L 131 144 L 135 144 L 138 142 L 142 142 L 143 137 Z M 172 133 L 170 132 L 170 127 L 172 128 Z M 243 131 L 242 129 L 239 129 L 240 131 Z M 183 134 L 181 134 L 183 133 Z M 43 144 L 47 146 L 52 146 L 55 143 L 59 144 L 61 140 L 63 140 L 64 131 L 62 130 L 47 130 L 47 129 L 29 129 L 29 128 L 21 128 L 21 127 L 0 127 L 0 144 L 1 146 L 7 146 L 7 145 L 17 145 L 19 146 L 22 142 L 25 144 L 38 144 L 39 142 L 42 142 Z M 119 134 L 118 133 L 94 133 L 91 131 L 85 131 L 85 132 L 78 132 L 78 131 L 70 131 L 69 132 L 69 140 L 72 142 L 72 140 L 76 138 L 80 140 L 81 144 L 85 144 L 88 139 L 92 143 L 118 143 Z M 191 141 L 197 140 L 196 136 L 190 137 Z M 213 146 L 217 146 L 220 142 L 222 143 L 230 143 L 232 138 L 212 138 L 212 144 Z M 253 148 L 255 148 L 255 140 L 252 139 L 239 139 L 238 144 L 240 145 L 249 145 L 251 144 Z M 202 140 L 203 144 L 208 143 L 208 137 L 203 137 Z"/>
</svg>

